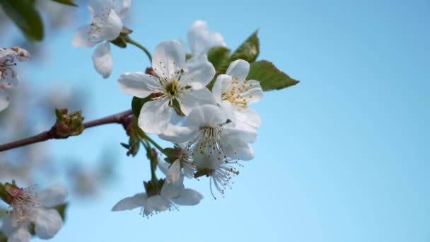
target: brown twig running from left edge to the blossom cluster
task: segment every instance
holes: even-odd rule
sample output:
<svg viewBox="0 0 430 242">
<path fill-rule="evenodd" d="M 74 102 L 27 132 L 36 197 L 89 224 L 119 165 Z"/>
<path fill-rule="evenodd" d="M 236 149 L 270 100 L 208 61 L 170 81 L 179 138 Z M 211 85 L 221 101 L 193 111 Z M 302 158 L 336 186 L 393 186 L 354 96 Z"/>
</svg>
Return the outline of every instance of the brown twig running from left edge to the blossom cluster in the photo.
<svg viewBox="0 0 430 242">
<path fill-rule="evenodd" d="M 89 122 L 84 122 L 83 127 L 90 128 L 99 125 L 108 125 L 108 124 L 122 124 L 124 129 L 127 130 L 127 126 L 131 122 L 131 117 L 133 112 L 132 110 L 127 110 L 122 113 L 117 113 L 115 115 L 110 115 L 107 117 L 102 117 L 98 120 L 92 120 Z M 59 137 L 56 132 L 57 125 L 52 126 L 52 128 L 48 131 L 42 132 L 40 134 L 36 134 L 35 136 L 28 137 L 25 139 L 17 140 L 16 142 L 11 142 L 7 144 L 0 145 L 0 152 L 7 151 L 8 149 L 15 149 L 21 146 L 26 146 L 28 144 L 35 144 L 38 142 L 45 142 L 48 139 L 66 139 L 68 137 Z"/>
</svg>

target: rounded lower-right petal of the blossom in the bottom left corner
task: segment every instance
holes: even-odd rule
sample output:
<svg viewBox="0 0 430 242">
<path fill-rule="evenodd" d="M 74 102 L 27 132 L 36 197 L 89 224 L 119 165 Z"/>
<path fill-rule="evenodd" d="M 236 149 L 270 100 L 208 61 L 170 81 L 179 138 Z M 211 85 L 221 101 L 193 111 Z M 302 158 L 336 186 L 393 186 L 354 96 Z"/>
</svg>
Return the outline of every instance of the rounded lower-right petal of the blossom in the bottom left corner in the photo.
<svg viewBox="0 0 430 242">
<path fill-rule="evenodd" d="M 37 209 L 35 232 L 39 238 L 54 237 L 63 225 L 62 217 L 55 209 Z"/>
</svg>

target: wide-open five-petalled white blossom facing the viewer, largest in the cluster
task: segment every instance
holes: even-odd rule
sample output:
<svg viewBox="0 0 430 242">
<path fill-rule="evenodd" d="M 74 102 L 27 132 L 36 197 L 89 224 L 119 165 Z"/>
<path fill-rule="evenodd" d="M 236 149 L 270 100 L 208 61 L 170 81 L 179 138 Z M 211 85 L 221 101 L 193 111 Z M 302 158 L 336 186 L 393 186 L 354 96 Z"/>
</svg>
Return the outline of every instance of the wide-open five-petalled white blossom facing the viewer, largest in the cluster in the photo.
<svg viewBox="0 0 430 242">
<path fill-rule="evenodd" d="M 185 62 L 185 48 L 177 40 L 161 42 L 153 53 L 157 76 L 142 72 L 124 73 L 118 80 L 124 93 L 138 98 L 151 95 L 141 109 L 138 125 L 144 132 L 161 134 L 175 108 L 188 115 L 192 108 L 214 103 L 206 85 L 214 78 L 214 66 L 205 55 Z"/>
</svg>

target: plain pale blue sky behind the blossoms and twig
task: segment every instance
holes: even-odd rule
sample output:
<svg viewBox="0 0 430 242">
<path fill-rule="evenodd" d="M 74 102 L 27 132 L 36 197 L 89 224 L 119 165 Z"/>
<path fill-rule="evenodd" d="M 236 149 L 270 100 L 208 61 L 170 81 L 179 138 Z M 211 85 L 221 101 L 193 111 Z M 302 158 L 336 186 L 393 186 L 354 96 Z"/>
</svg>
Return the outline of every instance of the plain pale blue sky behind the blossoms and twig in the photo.
<svg viewBox="0 0 430 242">
<path fill-rule="evenodd" d="M 187 180 L 204 194 L 196 207 L 150 219 L 138 209 L 112 213 L 149 179 L 143 153 L 120 156 L 115 184 L 91 203 L 71 197 L 52 241 L 430 241 L 429 1 L 134 0 L 132 11 L 132 37 L 150 50 L 185 40 L 197 19 L 232 49 L 259 29 L 259 59 L 301 83 L 255 105 L 263 120 L 256 158 L 226 198 L 211 198 L 209 180 Z M 116 79 L 149 62 L 135 47 L 114 47 L 112 76 L 102 79 L 93 50 L 70 45 L 89 23 L 84 13 L 27 74 L 35 91 L 54 83 L 88 89 L 83 113 L 91 120 L 129 108 Z M 115 144 L 125 140 L 111 125 L 49 144 L 61 163 L 95 160 L 107 145 L 124 152 Z"/>
</svg>

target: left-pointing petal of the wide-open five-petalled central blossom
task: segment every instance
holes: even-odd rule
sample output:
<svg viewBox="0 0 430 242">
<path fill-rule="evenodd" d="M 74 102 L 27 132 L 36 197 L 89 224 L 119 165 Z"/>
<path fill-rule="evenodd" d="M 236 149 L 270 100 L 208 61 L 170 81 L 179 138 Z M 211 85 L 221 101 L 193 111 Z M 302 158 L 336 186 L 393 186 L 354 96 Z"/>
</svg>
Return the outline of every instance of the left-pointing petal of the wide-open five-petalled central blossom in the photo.
<svg viewBox="0 0 430 242">
<path fill-rule="evenodd" d="M 126 72 L 120 76 L 118 83 L 123 93 L 138 98 L 146 98 L 161 86 L 156 77 L 143 72 Z"/>
</svg>

